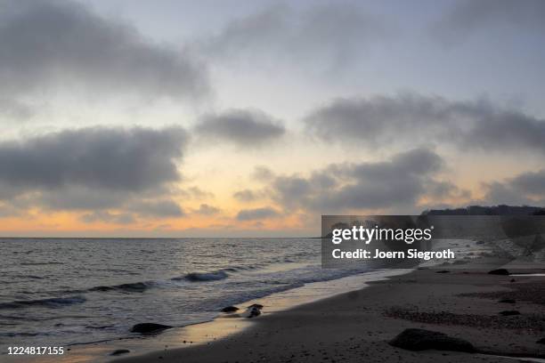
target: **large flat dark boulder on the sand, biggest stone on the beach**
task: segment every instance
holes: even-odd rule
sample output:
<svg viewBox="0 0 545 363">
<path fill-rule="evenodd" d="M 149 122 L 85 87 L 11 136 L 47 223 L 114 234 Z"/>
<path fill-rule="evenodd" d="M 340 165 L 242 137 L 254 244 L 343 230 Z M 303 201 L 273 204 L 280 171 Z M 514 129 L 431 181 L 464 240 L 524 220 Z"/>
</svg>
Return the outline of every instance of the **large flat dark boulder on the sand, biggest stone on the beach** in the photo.
<svg viewBox="0 0 545 363">
<path fill-rule="evenodd" d="M 390 345 L 409 351 L 466 351 L 475 352 L 473 344 L 460 338 L 453 338 L 440 332 L 426 329 L 405 329 L 397 335 Z"/>
</svg>

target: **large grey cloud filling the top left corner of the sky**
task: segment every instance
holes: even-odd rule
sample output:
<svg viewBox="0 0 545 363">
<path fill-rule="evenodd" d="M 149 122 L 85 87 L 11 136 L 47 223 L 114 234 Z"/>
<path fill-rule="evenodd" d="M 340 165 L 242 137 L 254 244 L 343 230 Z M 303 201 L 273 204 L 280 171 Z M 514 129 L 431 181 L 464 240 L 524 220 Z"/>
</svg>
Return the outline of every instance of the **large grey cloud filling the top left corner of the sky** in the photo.
<svg viewBox="0 0 545 363">
<path fill-rule="evenodd" d="M 151 43 L 83 4 L 7 0 L 0 6 L 4 97 L 39 97 L 52 88 L 175 100 L 208 93 L 204 67 L 190 54 Z"/>
</svg>

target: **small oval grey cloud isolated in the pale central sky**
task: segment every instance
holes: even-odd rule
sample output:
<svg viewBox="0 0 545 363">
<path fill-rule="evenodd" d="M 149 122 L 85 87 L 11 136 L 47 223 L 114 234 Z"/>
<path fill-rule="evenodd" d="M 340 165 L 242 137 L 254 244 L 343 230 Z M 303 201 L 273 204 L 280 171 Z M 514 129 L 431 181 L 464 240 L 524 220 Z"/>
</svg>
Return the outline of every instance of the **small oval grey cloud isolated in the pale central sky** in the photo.
<svg viewBox="0 0 545 363">
<path fill-rule="evenodd" d="M 195 127 L 199 135 L 231 141 L 241 146 L 256 146 L 279 139 L 285 132 L 280 122 L 256 109 L 230 109 L 202 117 Z"/>
</svg>

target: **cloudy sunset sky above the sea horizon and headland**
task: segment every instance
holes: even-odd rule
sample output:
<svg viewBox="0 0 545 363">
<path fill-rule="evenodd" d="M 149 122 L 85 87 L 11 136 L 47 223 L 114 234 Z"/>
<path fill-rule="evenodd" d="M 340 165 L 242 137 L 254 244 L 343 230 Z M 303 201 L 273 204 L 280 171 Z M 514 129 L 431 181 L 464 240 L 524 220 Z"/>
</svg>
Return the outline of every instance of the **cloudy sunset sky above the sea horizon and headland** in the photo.
<svg viewBox="0 0 545 363">
<path fill-rule="evenodd" d="M 0 236 L 545 206 L 541 0 L 0 0 Z"/>
</svg>

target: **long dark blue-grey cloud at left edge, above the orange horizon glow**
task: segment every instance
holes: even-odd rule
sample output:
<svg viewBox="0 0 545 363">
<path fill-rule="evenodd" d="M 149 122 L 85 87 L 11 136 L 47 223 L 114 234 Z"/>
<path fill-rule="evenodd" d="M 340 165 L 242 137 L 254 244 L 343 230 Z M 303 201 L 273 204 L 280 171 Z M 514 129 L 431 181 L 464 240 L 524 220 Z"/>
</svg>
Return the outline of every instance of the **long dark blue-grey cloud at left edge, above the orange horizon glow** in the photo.
<svg viewBox="0 0 545 363">
<path fill-rule="evenodd" d="M 181 128 L 93 127 L 0 142 L 0 183 L 24 190 L 78 186 L 143 191 L 179 181 Z"/>
</svg>

